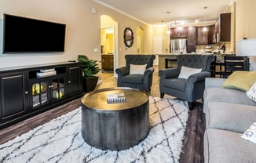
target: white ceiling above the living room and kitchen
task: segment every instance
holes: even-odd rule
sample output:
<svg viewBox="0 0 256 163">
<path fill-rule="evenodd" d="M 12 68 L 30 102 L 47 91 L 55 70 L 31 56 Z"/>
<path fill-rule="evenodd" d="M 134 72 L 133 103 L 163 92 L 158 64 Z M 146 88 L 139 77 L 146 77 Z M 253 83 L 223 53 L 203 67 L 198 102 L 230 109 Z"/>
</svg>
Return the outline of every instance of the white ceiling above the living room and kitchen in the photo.
<svg viewBox="0 0 256 163">
<path fill-rule="evenodd" d="M 93 0 L 150 25 L 218 20 L 235 0 Z M 207 9 L 203 7 L 207 6 Z M 167 13 L 170 12 L 170 13 Z M 162 22 L 163 21 L 163 22 Z"/>
</svg>

